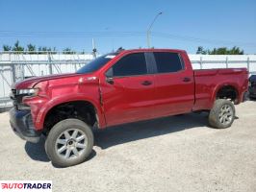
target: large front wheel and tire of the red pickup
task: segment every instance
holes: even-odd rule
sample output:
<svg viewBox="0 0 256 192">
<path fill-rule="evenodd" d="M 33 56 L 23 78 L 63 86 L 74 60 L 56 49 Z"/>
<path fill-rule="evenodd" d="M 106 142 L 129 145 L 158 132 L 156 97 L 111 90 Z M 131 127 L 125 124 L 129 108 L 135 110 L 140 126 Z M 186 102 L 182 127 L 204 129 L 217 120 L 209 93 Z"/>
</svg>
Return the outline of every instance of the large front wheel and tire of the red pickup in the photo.
<svg viewBox="0 0 256 192">
<path fill-rule="evenodd" d="M 79 164 L 90 156 L 93 134 L 90 127 L 78 119 L 57 123 L 45 141 L 45 151 L 54 165 L 68 167 Z"/>
</svg>

